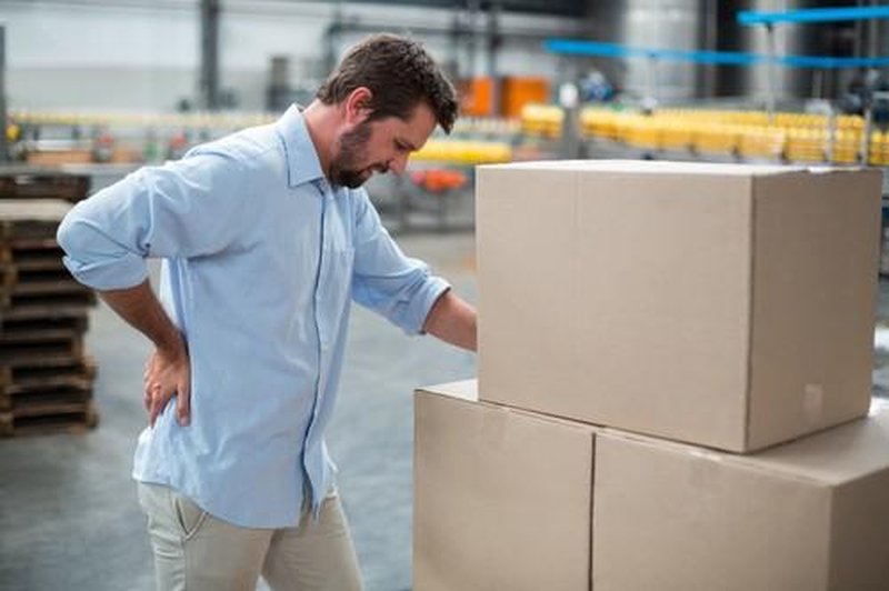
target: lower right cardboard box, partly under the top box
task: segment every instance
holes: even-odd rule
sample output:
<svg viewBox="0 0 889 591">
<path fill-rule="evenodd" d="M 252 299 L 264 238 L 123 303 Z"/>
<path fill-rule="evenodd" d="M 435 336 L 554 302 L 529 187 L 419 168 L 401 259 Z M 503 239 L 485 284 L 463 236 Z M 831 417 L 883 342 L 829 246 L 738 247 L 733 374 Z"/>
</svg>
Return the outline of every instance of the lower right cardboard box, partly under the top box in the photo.
<svg viewBox="0 0 889 591">
<path fill-rule="evenodd" d="M 735 455 L 596 438 L 595 591 L 886 591 L 889 412 Z"/>
</svg>

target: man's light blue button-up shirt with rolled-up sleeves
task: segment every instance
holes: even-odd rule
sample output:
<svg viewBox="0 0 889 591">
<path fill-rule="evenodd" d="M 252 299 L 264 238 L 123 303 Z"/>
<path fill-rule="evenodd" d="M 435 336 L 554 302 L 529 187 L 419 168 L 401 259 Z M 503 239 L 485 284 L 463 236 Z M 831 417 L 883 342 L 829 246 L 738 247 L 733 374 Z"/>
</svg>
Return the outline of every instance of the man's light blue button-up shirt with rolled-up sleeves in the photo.
<svg viewBox="0 0 889 591">
<path fill-rule="evenodd" d="M 298 522 L 334 484 L 324 444 L 350 300 L 408 333 L 448 284 L 402 254 L 363 189 L 331 187 L 299 110 L 147 167 L 78 203 L 64 263 L 98 290 L 139 284 L 191 358 L 191 424 L 171 402 L 139 437 L 133 477 L 243 527 Z M 133 392 L 133 395 L 140 395 Z"/>
</svg>

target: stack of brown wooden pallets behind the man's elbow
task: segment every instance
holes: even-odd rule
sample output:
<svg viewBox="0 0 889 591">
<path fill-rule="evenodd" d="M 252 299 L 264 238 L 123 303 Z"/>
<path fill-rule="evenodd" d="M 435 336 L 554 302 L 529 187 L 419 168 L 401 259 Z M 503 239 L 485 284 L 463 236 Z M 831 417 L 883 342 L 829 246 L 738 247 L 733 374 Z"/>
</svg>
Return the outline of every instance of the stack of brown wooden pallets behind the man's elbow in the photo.
<svg viewBox="0 0 889 591">
<path fill-rule="evenodd" d="M 83 351 L 94 293 L 61 262 L 51 199 L 0 200 L 0 435 L 94 427 L 94 365 Z"/>
</svg>

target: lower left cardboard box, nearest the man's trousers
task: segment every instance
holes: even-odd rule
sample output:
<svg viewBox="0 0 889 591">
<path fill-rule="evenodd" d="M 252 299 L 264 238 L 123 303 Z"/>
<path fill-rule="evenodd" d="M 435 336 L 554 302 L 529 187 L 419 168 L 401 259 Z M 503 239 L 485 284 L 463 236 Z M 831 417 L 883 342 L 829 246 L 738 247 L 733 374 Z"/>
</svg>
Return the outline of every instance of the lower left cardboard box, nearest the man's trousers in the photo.
<svg viewBox="0 0 889 591">
<path fill-rule="evenodd" d="M 417 391 L 413 589 L 587 591 L 592 429 Z"/>
</svg>

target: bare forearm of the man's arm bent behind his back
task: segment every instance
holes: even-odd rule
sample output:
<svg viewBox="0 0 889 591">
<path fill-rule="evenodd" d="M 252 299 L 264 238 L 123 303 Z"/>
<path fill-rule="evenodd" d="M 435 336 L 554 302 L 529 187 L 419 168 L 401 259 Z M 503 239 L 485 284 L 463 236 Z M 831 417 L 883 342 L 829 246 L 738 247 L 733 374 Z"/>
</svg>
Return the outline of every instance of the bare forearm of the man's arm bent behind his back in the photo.
<svg viewBox="0 0 889 591">
<path fill-rule="evenodd" d="M 99 296 L 159 350 L 172 357 L 186 352 L 179 329 L 167 315 L 148 280 L 134 288 L 100 291 Z"/>
</svg>

